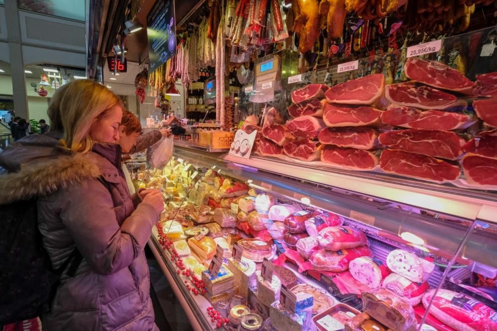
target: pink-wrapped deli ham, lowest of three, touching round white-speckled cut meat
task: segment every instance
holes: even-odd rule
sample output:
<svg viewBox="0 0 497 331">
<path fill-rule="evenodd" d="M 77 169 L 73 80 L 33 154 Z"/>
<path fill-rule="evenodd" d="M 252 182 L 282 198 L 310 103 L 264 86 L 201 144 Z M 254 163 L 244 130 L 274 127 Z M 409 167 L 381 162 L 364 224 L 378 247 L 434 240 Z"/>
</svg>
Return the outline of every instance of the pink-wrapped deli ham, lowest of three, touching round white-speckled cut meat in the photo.
<svg viewBox="0 0 497 331">
<path fill-rule="evenodd" d="M 315 251 L 309 261 L 315 270 L 342 272 L 348 269 L 350 261 L 361 256 L 373 256 L 366 246 L 332 251 L 320 249 Z"/>
</svg>

